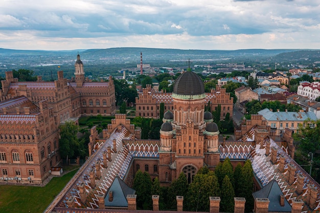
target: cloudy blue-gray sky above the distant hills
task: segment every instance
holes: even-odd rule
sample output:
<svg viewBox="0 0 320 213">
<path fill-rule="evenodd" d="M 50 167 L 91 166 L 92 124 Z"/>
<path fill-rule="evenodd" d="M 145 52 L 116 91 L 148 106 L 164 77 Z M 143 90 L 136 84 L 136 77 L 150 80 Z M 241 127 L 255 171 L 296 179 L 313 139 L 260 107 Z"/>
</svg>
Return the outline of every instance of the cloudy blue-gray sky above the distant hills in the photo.
<svg viewBox="0 0 320 213">
<path fill-rule="evenodd" d="M 320 0 L 0 0 L 0 48 L 320 49 Z"/>
</svg>

